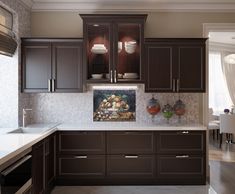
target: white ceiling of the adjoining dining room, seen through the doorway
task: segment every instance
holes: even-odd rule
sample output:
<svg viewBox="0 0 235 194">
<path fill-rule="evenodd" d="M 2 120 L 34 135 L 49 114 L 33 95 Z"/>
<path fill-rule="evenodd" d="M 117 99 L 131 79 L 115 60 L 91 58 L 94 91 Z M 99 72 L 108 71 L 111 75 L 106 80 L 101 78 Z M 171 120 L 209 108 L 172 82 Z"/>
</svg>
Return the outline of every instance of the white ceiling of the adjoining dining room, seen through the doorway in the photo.
<svg viewBox="0 0 235 194">
<path fill-rule="evenodd" d="M 209 41 L 235 45 L 235 32 L 210 32 Z"/>
</svg>

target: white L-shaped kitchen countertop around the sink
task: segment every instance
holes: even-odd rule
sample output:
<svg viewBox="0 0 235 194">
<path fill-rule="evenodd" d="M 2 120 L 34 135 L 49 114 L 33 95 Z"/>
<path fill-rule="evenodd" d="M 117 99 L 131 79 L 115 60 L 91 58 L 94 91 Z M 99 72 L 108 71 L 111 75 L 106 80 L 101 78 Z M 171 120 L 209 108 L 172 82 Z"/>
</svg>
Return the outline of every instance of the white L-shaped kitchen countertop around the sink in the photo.
<svg viewBox="0 0 235 194">
<path fill-rule="evenodd" d="M 42 128 L 43 133 L 16 134 L 8 133 L 16 128 L 0 128 L 0 165 L 20 154 L 24 150 L 32 147 L 40 140 L 52 134 L 56 130 L 62 131 L 159 131 L 159 130 L 206 130 L 200 124 L 165 124 L 165 125 L 136 125 L 135 123 L 124 123 L 122 126 L 115 126 L 114 123 L 92 123 L 92 124 L 33 124 L 30 128 Z"/>
</svg>

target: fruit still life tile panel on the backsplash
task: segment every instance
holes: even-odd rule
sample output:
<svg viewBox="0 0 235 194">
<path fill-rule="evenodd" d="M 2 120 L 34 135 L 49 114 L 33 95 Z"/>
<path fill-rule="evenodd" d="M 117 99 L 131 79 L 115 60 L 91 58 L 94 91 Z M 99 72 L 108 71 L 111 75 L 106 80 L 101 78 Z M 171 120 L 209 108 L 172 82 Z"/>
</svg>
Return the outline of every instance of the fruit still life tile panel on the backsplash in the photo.
<svg viewBox="0 0 235 194">
<path fill-rule="evenodd" d="M 135 121 L 135 90 L 94 90 L 93 121 Z"/>
</svg>

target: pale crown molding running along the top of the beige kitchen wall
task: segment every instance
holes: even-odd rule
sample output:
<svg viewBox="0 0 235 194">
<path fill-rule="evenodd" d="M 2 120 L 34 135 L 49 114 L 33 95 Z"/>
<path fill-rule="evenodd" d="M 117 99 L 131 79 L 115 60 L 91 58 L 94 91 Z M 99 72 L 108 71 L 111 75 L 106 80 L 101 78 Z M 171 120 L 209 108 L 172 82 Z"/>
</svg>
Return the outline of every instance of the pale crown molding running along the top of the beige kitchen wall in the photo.
<svg viewBox="0 0 235 194">
<path fill-rule="evenodd" d="M 22 0 L 31 1 L 31 0 Z M 32 1 L 31 1 L 32 2 Z M 227 3 L 163 3 L 153 1 L 109 1 L 109 2 L 37 2 L 32 11 L 78 11 L 80 13 L 97 11 L 131 11 L 131 12 L 235 12 L 235 2 Z"/>
</svg>

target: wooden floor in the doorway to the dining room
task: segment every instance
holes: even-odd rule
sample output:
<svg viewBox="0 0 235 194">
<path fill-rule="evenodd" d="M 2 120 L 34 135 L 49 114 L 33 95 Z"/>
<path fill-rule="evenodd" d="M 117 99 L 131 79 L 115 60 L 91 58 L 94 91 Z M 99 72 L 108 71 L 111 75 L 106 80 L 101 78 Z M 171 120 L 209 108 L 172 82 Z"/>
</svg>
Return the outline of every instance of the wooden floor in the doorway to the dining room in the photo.
<svg viewBox="0 0 235 194">
<path fill-rule="evenodd" d="M 217 194 L 235 194 L 235 144 L 222 148 L 219 141 L 209 138 L 210 185 Z"/>
</svg>

